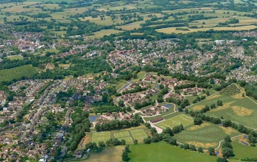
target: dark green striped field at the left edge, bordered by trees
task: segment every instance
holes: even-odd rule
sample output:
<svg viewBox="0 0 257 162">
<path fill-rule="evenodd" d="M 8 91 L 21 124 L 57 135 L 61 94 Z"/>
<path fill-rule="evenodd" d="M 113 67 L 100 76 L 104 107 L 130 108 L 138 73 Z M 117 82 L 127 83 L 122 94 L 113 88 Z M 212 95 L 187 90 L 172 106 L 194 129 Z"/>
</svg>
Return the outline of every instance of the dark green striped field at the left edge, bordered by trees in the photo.
<svg viewBox="0 0 257 162">
<path fill-rule="evenodd" d="M 19 66 L 12 69 L 0 70 L 0 81 L 19 79 L 22 76 L 31 76 L 36 73 L 36 68 L 31 65 Z"/>
</svg>

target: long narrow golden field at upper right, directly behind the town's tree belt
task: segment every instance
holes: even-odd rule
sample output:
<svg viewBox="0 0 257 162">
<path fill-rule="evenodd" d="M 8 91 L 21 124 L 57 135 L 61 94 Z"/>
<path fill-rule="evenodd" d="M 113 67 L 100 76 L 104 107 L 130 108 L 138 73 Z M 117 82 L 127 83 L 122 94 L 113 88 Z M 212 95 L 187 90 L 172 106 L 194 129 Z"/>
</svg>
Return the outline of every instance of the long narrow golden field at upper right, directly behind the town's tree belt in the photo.
<svg viewBox="0 0 257 162">
<path fill-rule="evenodd" d="M 183 27 L 187 28 L 187 27 Z M 255 29 L 257 26 L 255 25 L 246 25 L 246 26 L 238 26 L 238 27 L 214 27 L 214 28 L 197 28 L 197 29 L 189 29 L 188 31 L 181 31 L 181 30 L 176 30 L 176 27 L 169 27 L 169 28 L 162 28 L 162 29 L 156 29 L 157 32 L 163 32 L 163 33 L 189 33 L 189 32 L 198 32 L 198 31 L 207 31 L 210 29 L 213 30 L 249 30 L 249 29 Z"/>
</svg>

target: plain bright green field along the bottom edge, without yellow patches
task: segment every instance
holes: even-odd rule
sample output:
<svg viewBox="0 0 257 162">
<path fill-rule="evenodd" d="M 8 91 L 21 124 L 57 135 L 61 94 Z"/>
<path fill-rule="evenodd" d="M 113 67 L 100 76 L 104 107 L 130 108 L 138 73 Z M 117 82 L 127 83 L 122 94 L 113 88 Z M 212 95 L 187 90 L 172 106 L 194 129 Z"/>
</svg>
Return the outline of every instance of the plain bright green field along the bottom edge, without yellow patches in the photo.
<svg viewBox="0 0 257 162">
<path fill-rule="evenodd" d="M 217 157 L 195 151 L 183 150 L 166 142 L 129 145 L 129 162 L 216 162 Z"/>
</svg>

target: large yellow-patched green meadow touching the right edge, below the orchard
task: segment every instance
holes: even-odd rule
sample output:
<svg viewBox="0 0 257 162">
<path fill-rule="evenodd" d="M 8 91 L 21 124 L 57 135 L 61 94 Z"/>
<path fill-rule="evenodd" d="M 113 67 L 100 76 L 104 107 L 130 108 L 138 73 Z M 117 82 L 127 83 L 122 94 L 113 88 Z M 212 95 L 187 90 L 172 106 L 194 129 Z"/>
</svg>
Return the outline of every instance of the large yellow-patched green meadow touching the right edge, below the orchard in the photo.
<svg viewBox="0 0 257 162">
<path fill-rule="evenodd" d="M 221 117 L 231 121 L 241 123 L 247 127 L 257 128 L 257 110 L 256 103 L 252 102 L 248 97 L 242 97 L 238 91 L 234 95 L 218 93 L 194 105 L 189 106 L 189 110 L 200 110 L 205 105 L 217 104 L 217 100 L 223 102 L 223 106 L 217 106 L 205 114 L 209 116 Z"/>
</svg>

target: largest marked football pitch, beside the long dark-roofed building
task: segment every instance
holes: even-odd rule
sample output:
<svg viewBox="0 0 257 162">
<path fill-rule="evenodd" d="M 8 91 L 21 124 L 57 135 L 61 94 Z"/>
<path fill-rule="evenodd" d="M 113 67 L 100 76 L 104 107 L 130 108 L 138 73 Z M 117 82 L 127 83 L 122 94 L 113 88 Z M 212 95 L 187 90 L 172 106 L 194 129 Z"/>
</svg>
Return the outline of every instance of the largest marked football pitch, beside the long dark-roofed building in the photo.
<svg viewBox="0 0 257 162">
<path fill-rule="evenodd" d="M 174 116 L 170 119 L 167 119 L 163 122 L 157 123 L 156 126 L 165 129 L 166 127 L 173 128 L 179 124 L 182 124 L 184 127 L 194 123 L 194 119 L 185 114 L 180 114 L 178 116 Z"/>
</svg>

